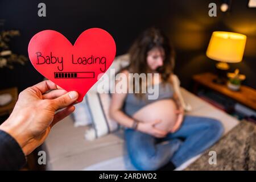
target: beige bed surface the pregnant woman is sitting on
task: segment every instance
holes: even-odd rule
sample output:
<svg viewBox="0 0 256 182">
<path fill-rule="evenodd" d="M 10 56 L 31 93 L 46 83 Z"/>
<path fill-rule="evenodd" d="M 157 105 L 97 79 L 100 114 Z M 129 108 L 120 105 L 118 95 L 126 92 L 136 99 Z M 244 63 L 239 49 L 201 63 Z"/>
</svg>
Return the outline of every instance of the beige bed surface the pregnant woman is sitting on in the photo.
<svg viewBox="0 0 256 182">
<path fill-rule="evenodd" d="M 219 119 L 228 133 L 239 121 L 224 111 L 208 104 L 188 90 L 181 88 L 184 100 L 192 106 L 188 115 Z M 89 141 L 85 140 L 86 126 L 74 127 L 71 116 L 53 127 L 46 142 L 48 170 L 130 170 L 123 145 L 123 130 Z M 200 156 L 200 155 L 199 155 Z M 182 170 L 199 156 L 188 160 L 176 170 Z"/>
</svg>

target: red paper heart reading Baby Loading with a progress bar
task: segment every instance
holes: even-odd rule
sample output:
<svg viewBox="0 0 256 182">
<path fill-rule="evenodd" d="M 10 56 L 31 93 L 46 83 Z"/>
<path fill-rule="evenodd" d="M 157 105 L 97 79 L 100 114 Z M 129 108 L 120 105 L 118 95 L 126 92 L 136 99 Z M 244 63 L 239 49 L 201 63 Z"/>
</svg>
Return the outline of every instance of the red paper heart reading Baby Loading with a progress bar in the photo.
<svg viewBox="0 0 256 182">
<path fill-rule="evenodd" d="M 115 42 L 101 28 L 85 30 L 74 46 L 59 32 L 44 30 L 30 40 L 28 56 L 39 73 L 68 92 L 77 91 L 82 101 L 112 64 Z"/>
</svg>

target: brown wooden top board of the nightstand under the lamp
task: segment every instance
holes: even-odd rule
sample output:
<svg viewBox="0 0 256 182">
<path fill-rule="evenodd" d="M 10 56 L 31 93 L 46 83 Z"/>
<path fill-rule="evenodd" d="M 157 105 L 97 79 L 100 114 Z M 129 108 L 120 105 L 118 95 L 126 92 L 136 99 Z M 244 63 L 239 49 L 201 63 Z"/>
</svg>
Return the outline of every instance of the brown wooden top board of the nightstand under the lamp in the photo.
<svg viewBox="0 0 256 182">
<path fill-rule="evenodd" d="M 240 90 L 233 91 L 230 90 L 226 85 L 220 85 L 213 82 L 217 78 L 213 73 L 201 73 L 199 75 L 193 76 L 193 81 L 197 84 L 206 86 L 216 92 L 224 94 L 232 98 L 233 100 L 240 102 L 251 109 L 256 110 L 256 90 L 248 86 L 241 85 Z"/>
</svg>

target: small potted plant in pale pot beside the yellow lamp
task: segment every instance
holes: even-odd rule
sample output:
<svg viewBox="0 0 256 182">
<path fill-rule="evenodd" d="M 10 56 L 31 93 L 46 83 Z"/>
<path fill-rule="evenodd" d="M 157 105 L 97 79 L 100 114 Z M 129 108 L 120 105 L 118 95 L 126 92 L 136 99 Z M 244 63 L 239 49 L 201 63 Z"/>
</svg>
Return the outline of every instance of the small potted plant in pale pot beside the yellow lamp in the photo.
<svg viewBox="0 0 256 182">
<path fill-rule="evenodd" d="M 234 73 L 228 73 L 229 81 L 227 86 L 230 90 L 237 91 L 240 89 L 242 80 L 245 80 L 245 75 L 240 75 L 239 70 L 236 69 Z"/>
</svg>

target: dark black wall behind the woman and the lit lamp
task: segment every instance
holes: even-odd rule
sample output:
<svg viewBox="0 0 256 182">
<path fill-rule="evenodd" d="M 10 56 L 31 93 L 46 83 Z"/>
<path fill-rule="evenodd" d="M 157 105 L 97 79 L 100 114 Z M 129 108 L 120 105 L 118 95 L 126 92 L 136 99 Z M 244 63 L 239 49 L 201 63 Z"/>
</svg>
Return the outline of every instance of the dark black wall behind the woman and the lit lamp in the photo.
<svg viewBox="0 0 256 182">
<path fill-rule="evenodd" d="M 38 3 L 46 3 L 47 17 L 38 16 Z M 208 5 L 216 2 L 217 17 L 208 16 Z M 232 64 L 247 76 L 244 84 L 256 88 L 256 9 L 247 1 L 233 1 L 229 13 L 219 11 L 221 1 L 0 1 L 0 19 L 4 30 L 17 29 L 22 34 L 11 41 L 15 53 L 27 56 L 27 46 L 36 32 L 52 29 L 61 32 L 71 43 L 87 28 L 104 28 L 113 35 L 117 55 L 125 53 L 145 28 L 156 26 L 170 36 L 176 48 L 175 73 L 181 84 L 189 88 L 195 73 L 214 71 L 216 61 L 205 56 L 213 31 L 234 31 L 247 35 L 244 59 Z M 13 70 L 0 69 L 0 89 L 18 86 L 19 91 L 42 80 L 30 63 L 16 65 Z"/>
</svg>

